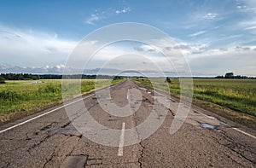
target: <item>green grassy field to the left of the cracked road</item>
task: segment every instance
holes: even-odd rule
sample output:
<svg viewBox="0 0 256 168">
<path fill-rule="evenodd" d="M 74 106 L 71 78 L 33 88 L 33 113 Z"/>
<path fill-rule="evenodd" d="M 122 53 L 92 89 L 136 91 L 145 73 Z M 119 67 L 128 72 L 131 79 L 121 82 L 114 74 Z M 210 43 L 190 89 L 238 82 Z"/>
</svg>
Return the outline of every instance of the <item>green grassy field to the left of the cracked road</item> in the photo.
<svg viewBox="0 0 256 168">
<path fill-rule="evenodd" d="M 75 81 L 70 80 L 70 81 Z M 78 81 L 78 80 L 77 80 Z M 112 84 L 120 80 L 113 80 Z M 41 111 L 47 107 L 52 107 L 61 103 L 61 79 L 40 80 L 35 83 L 33 80 L 6 81 L 6 84 L 0 84 L 0 123 L 19 119 L 20 117 Z M 81 87 L 82 93 L 93 90 L 109 84 L 109 80 L 97 80 L 95 86 L 94 79 L 83 79 Z M 69 88 L 73 88 L 70 84 Z M 70 90 L 72 93 L 73 90 Z M 79 94 L 73 93 L 72 96 Z"/>
</svg>

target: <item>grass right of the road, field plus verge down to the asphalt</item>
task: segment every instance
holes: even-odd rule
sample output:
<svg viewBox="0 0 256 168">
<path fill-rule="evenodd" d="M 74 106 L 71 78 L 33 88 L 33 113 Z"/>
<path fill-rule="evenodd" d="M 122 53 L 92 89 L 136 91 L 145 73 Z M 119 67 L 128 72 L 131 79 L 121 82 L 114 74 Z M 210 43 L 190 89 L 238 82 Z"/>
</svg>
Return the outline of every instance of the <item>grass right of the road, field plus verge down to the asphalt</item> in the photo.
<svg viewBox="0 0 256 168">
<path fill-rule="evenodd" d="M 160 78 L 134 78 L 140 84 L 170 91 L 179 98 L 178 78 L 163 83 Z M 226 119 L 256 129 L 256 80 L 194 78 L 193 104 Z M 167 84 L 167 87 L 166 87 Z"/>
</svg>

